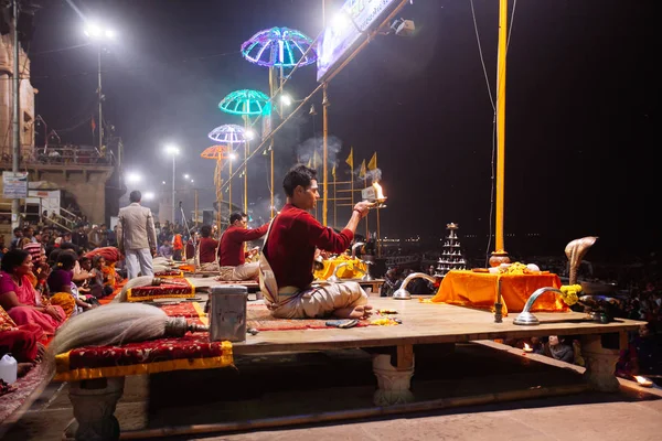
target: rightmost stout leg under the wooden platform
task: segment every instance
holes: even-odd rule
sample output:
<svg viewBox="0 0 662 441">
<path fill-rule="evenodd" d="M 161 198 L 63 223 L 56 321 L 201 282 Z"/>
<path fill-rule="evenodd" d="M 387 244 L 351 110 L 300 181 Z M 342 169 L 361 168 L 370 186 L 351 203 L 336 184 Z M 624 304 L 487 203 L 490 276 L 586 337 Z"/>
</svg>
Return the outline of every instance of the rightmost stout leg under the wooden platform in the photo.
<svg viewBox="0 0 662 441">
<path fill-rule="evenodd" d="M 619 351 L 602 347 L 599 334 L 581 336 L 581 355 L 586 361 L 584 377 L 588 385 L 599 391 L 613 392 L 619 389 L 616 378 L 616 363 Z"/>
</svg>

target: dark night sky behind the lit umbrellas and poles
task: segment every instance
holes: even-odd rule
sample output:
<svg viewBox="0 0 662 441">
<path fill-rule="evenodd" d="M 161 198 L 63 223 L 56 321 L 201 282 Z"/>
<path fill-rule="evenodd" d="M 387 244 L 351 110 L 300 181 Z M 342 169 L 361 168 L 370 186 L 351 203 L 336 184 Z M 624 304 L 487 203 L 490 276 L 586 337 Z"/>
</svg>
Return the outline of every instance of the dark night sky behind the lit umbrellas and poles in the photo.
<svg viewBox="0 0 662 441">
<path fill-rule="evenodd" d="M 321 0 L 75 3 L 119 34 L 104 56 L 104 109 L 124 139 L 126 170 L 150 176 L 140 190 L 159 191 L 164 180 L 170 191 L 172 165 L 162 148 L 175 142 L 186 151 L 178 176 L 191 173 L 204 189 L 204 206 L 214 194 L 214 161 L 200 158 L 212 144 L 206 135 L 222 123 L 241 123 L 218 110 L 218 101 L 239 88 L 268 92 L 267 71 L 245 61 L 241 44 L 275 25 L 314 37 L 322 23 Z M 328 17 L 341 3 L 328 1 Z M 89 144 L 96 49 L 58 51 L 87 42 L 83 21 L 64 0 L 42 4 L 30 45 L 36 114 L 64 142 Z M 473 4 L 493 89 L 498 1 Z M 378 152 L 389 200 L 381 216 L 385 235 L 438 236 L 456 222 L 460 233 L 487 236 L 493 111 L 470 1 L 415 0 L 401 15 L 415 21 L 415 36 L 375 39 L 329 87 L 329 133 L 333 148 L 342 146 L 339 170 L 348 169 L 350 146 L 356 166 Z M 508 58 L 506 235 L 540 233 L 558 254 L 586 235 L 600 236 L 605 254 L 659 247 L 654 17 L 653 1 L 644 0 L 516 3 Z M 314 87 L 314 67 L 308 66 L 286 88 L 300 99 Z M 310 117 L 307 107 L 277 141 L 278 194 L 297 151 L 321 132 L 321 94 L 313 103 L 318 116 Z M 265 207 L 267 165 L 261 155 L 249 164 L 249 197 Z M 181 198 L 193 208 L 192 197 Z M 348 215 L 341 212 L 339 224 Z"/>
</svg>

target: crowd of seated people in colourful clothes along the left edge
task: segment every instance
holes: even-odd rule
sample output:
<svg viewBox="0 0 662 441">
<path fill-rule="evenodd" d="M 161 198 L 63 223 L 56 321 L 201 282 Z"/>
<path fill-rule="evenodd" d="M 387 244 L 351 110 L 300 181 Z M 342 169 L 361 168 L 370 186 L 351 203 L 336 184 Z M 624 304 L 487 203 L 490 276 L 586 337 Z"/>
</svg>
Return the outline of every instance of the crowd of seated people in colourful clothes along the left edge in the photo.
<svg viewBox="0 0 662 441">
<path fill-rule="evenodd" d="M 114 232 L 78 225 L 73 233 L 26 225 L 0 236 L 0 357 L 7 353 L 24 374 L 44 344 L 71 316 L 99 305 L 121 277 Z"/>
</svg>

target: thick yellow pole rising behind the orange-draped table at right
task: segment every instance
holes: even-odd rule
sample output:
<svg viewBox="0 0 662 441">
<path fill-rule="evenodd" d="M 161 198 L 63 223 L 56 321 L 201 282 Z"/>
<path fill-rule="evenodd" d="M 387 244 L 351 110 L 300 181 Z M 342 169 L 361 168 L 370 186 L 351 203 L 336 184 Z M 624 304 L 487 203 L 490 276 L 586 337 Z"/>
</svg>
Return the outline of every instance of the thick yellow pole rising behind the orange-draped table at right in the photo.
<svg viewBox="0 0 662 441">
<path fill-rule="evenodd" d="M 503 200 L 505 174 L 505 55 L 508 43 L 508 0 L 499 0 L 499 54 L 496 58 L 496 219 L 495 250 L 503 251 Z"/>
</svg>

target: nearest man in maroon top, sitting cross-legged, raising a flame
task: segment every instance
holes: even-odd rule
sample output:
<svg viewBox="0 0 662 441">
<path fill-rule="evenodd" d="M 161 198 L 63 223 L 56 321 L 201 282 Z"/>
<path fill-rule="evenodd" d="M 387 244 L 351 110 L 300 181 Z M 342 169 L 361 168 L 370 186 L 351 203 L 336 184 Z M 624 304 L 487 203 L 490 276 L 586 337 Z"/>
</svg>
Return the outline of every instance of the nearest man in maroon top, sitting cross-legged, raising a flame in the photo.
<svg viewBox="0 0 662 441">
<path fill-rule="evenodd" d="M 287 203 L 271 223 L 259 261 L 260 290 L 271 314 L 285 319 L 369 316 L 372 306 L 359 283 L 311 283 L 316 247 L 337 254 L 345 251 L 371 204 L 354 205 L 350 222 L 338 234 L 308 213 L 320 197 L 314 170 L 295 165 L 286 174 L 282 187 Z"/>
</svg>

